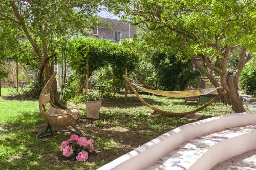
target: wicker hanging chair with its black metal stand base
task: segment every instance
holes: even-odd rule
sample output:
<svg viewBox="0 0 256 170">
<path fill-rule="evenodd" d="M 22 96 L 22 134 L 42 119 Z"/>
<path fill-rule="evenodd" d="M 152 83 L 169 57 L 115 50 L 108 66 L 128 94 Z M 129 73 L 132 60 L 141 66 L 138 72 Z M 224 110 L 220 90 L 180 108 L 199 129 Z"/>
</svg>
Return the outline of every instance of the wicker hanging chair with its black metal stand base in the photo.
<svg viewBox="0 0 256 170">
<path fill-rule="evenodd" d="M 47 63 L 47 62 L 46 62 Z M 44 67 L 42 67 L 41 72 Z M 45 132 L 42 132 L 36 137 L 41 140 L 42 138 L 53 136 L 56 132 L 70 132 L 81 136 L 80 133 L 68 130 L 57 130 L 53 131 L 51 126 L 56 127 L 68 127 L 73 125 L 79 117 L 79 109 L 60 109 L 57 107 L 51 98 L 51 87 L 55 80 L 56 72 L 48 80 L 44 88 L 42 88 L 39 96 L 39 109 L 42 116 L 47 120 L 48 126 Z M 40 79 L 41 80 L 41 79 Z"/>
</svg>

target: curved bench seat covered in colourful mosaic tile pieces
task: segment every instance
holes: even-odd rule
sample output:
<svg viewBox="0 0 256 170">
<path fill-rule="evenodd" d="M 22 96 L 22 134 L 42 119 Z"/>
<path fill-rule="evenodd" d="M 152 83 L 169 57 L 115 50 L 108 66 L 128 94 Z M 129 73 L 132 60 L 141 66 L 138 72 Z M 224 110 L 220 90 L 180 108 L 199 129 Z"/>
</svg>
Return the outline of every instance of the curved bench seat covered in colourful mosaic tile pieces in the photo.
<svg viewBox="0 0 256 170">
<path fill-rule="evenodd" d="M 189 169 L 208 149 L 221 141 L 256 131 L 256 124 L 226 128 L 219 132 L 203 134 L 182 142 L 178 148 L 168 153 L 146 170 Z"/>
</svg>

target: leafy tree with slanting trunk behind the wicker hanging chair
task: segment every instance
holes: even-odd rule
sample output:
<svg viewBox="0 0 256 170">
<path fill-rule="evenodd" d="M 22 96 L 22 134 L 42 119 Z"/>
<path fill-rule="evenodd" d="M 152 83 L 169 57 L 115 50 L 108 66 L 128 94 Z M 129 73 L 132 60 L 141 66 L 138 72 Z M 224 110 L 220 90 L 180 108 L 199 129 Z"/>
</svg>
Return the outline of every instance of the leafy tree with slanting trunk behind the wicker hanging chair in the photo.
<svg viewBox="0 0 256 170">
<path fill-rule="evenodd" d="M 61 37 L 82 34 L 95 25 L 95 13 L 100 3 L 100 0 L 3 0 L 0 4 L 0 20 L 12 22 L 22 30 L 39 65 L 49 54 L 55 52 Z M 52 72 L 53 60 L 50 67 L 46 66 L 46 81 Z M 58 99 L 56 82 L 53 92 L 55 103 L 65 108 Z"/>
</svg>

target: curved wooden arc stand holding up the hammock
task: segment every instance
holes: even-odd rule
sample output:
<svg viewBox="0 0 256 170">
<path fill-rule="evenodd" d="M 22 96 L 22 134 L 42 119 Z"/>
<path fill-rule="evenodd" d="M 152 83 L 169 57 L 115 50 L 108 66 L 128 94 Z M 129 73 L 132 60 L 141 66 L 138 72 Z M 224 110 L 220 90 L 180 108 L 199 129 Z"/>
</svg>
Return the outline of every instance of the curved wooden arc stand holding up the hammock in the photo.
<svg viewBox="0 0 256 170">
<path fill-rule="evenodd" d="M 149 107 L 151 110 L 154 111 L 154 113 L 161 113 L 161 114 L 166 114 L 166 115 L 173 115 L 173 116 L 186 116 L 186 115 L 194 115 L 196 112 L 199 112 L 200 110 L 203 110 L 204 108 L 206 108 L 207 106 L 211 105 L 212 103 L 214 103 L 223 93 L 223 89 L 221 90 L 220 93 L 218 93 L 214 98 L 212 98 L 209 102 L 207 102 L 205 105 L 192 110 L 192 111 L 187 111 L 187 112 L 171 112 L 171 111 L 164 111 L 161 109 L 158 109 L 150 104 L 148 104 L 146 101 L 144 101 L 141 96 L 138 94 L 138 92 L 134 89 L 131 81 L 128 78 L 128 74 L 127 74 L 127 70 L 125 69 L 125 81 L 126 83 L 130 86 L 131 90 L 133 91 L 133 93 L 137 96 L 137 98 L 141 101 L 141 103 L 143 103 L 144 105 L 146 105 L 147 107 Z M 139 86 L 138 86 L 139 87 Z M 220 87 L 221 88 L 221 87 Z M 140 89 L 140 88 L 139 88 Z M 204 94 L 203 94 L 204 95 Z"/>
</svg>

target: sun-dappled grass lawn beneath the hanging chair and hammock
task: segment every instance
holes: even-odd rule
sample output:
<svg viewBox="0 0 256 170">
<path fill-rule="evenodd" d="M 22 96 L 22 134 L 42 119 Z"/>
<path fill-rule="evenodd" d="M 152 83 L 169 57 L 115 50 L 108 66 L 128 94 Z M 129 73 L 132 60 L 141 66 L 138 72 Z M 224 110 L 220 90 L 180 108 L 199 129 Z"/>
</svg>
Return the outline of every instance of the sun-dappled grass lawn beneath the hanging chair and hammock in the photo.
<svg viewBox="0 0 256 170">
<path fill-rule="evenodd" d="M 198 107 L 194 102 L 185 104 L 183 99 L 142 96 L 148 103 L 165 110 L 187 111 Z M 201 97 L 200 105 L 209 100 Z M 181 116 L 148 116 L 151 110 L 134 95 L 130 95 L 127 103 L 123 95 L 104 100 L 98 120 L 86 119 L 84 104 L 69 103 L 68 106 L 81 108 L 79 120 L 68 129 L 95 141 L 95 152 L 88 161 L 69 161 L 62 155 L 60 144 L 69 134 L 56 135 L 49 142 L 35 138 L 46 126 L 37 101 L 0 98 L 0 169 L 97 169 L 148 140 L 189 123 L 181 120 Z M 230 106 L 218 101 L 199 113 L 204 115 L 201 119 L 205 119 L 232 112 Z"/>
</svg>

